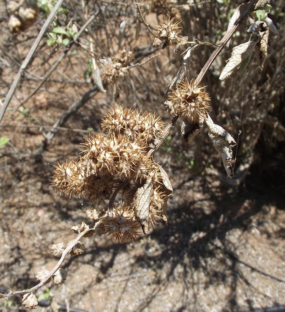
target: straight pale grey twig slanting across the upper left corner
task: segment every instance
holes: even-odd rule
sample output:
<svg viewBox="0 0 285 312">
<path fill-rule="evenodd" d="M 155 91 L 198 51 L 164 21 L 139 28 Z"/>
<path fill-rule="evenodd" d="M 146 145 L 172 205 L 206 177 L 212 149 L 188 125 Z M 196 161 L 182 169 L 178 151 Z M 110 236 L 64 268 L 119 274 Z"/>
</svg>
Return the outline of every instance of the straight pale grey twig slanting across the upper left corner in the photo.
<svg viewBox="0 0 285 312">
<path fill-rule="evenodd" d="M 11 88 L 10 90 L 8 91 L 7 95 L 6 95 L 6 98 L 4 100 L 4 103 L 3 103 L 3 106 L 0 110 L 0 123 L 1 123 L 1 120 L 5 114 L 5 111 L 12 99 L 12 96 L 17 88 L 17 85 L 21 79 L 21 77 L 24 75 L 24 71 L 25 69 L 27 68 L 27 66 L 29 65 L 31 59 L 32 59 L 32 56 L 34 55 L 40 41 L 42 40 L 42 37 L 43 35 L 45 34 L 45 32 L 47 31 L 47 28 L 49 27 L 49 24 L 53 21 L 54 17 L 56 16 L 57 14 L 57 11 L 60 9 L 62 3 L 63 3 L 64 0 L 58 0 L 57 4 L 55 5 L 55 7 L 52 9 L 52 12 L 51 14 L 48 16 L 46 22 L 43 24 L 42 26 L 42 29 L 41 31 L 39 32 L 38 36 L 37 36 L 37 39 L 35 40 L 35 42 L 33 43 L 30 51 L 28 52 L 25 60 L 23 61 L 23 64 L 22 66 L 20 67 L 18 73 L 17 73 L 17 76 L 15 78 L 15 80 L 13 81 L 12 85 L 11 85 Z"/>
</svg>

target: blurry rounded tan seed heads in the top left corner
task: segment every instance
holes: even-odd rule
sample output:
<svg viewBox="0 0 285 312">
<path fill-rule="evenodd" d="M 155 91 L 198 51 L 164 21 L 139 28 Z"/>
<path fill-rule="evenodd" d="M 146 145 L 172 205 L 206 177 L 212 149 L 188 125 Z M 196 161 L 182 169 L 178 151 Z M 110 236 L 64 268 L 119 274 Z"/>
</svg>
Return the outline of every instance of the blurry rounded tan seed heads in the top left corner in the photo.
<svg viewBox="0 0 285 312">
<path fill-rule="evenodd" d="M 12 33 L 18 33 L 28 29 L 37 21 L 37 1 L 10 0 L 7 3 L 7 11 L 10 14 L 8 26 Z"/>
</svg>

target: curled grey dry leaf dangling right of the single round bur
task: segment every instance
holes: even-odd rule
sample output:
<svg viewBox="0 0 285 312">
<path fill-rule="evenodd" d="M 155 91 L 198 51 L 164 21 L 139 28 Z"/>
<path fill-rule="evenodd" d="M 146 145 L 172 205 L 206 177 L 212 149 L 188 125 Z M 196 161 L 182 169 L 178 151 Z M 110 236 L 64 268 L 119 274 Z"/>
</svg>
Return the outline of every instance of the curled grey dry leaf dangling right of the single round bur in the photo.
<svg viewBox="0 0 285 312">
<path fill-rule="evenodd" d="M 236 145 L 236 141 L 224 128 L 218 124 L 214 124 L 209 114 L 207 114 L 205 122 L 209 128 L 209 138 L 211 139 L 214 148 L 218 151 L 223 160 L 227 175 L 229 178 L 233 178 L 234 173 L 231 164 L 233 157 L 232 147 Z"/>
</svg>

